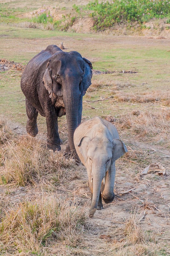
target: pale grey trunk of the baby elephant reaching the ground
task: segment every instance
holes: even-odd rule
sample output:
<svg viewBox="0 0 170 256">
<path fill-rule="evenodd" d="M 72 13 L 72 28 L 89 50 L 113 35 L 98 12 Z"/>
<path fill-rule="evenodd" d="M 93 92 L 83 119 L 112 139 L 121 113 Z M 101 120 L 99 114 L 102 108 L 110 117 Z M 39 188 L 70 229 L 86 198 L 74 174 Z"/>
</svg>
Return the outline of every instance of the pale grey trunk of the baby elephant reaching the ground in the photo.
<svg viewBox="0 0 170 256">
<path fill-rule="evenodd" d="M 93 217 L 94 213 L 96 212 L 97 205 L 99 202 L 101 182 L 104 176 L 105 174 L 102 175 L 100 168 L 92 168 L 93 196 L 90 206 L 89 217 Z M 89 180 L 89 182 L 91 181 Z"/>
</svg>

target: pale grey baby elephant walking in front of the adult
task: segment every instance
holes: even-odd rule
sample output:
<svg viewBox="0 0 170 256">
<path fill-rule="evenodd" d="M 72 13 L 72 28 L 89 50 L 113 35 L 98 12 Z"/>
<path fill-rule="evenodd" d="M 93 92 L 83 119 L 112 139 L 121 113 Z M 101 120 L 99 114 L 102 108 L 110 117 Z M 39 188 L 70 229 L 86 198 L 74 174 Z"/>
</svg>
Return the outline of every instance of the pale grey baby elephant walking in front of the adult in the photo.
<svg viewBox="0 0 170 256">
<path fill-rule="evenodd" d="M 101 193 L 105 203 L 113 201 L 115 160 L 128 150 L 119 140 L 116 127 L 100 117 L 94 117 L 77 127 L 74 145 L 81 162 L 87 168 L 91 190 L 89 217 L 93 217 L 96 209 L 103 208 Z"/>
</svg>

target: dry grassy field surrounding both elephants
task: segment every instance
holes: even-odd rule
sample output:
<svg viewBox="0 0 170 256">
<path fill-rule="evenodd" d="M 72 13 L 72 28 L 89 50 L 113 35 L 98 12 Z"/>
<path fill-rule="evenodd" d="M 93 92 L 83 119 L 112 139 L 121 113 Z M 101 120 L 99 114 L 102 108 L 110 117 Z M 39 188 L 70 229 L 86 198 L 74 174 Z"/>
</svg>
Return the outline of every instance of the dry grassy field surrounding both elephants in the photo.
<svg viewBox="0 0 170 256">
<path fill-rule="evenodd" d="M 73 4 L 57 3 L 68 8 Z M 18 1 L 0 1 L 11 15 L 11 10 L 25 13 L 57 3 L 22 1 L 20 10 L 13 10 Z M 128 153 L 116 161 L 113 203 L 104 204 L 89 219 L 86 170 L 63 158 L 66 118 L 59 118 L 62 152 L 48 152 L 44 117 L 38 116 L 37 137 L 26 135 L 22 71 L 0 71 L 0 255 L 170 255 L 169 39 L 78 34 L 21 28 L 16 20 L 7 23 L 0 24 L 0 65 L 2 59 L 26 65 L 47 45 L 59 46 L 61 41 L 64 51 L 78 51 L 92 62 L 82 121 L 93 116 L 112 121 Z M 163 166 L 166 174 L 152 170 L 141 176 L 153 163 Z"/>
</svg>

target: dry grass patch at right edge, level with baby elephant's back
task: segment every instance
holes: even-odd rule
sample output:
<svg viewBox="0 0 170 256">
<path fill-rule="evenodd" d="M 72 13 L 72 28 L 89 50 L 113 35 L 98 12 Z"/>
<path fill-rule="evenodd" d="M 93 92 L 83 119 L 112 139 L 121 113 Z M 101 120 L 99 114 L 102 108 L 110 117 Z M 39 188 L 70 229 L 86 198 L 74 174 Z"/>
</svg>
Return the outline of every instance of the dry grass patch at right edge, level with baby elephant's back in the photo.
<svg viewBox="0 0 170 256">
<path fill-rule="evenodd" d="M 131 129 L 133 133 L 139 134 L 140 137 L 160 135 L 167 140 L 169 136 L 169 121 L 169 110 L 163 109 L 155 113 L 137 110 L 122 116 L 118 120 L 118 124 L 120 124 L 121 128 Z"/>
</svg>

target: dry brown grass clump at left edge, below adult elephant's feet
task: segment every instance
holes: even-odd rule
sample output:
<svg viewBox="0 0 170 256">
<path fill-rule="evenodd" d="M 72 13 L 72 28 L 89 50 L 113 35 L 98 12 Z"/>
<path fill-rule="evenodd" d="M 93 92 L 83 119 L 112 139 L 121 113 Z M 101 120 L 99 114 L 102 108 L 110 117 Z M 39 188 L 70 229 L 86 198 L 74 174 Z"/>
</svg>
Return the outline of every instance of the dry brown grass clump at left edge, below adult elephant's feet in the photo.
<svg viewBox="0 0 170 256">
<path fill-rule="evenodd" d="M 74 163 L 66 162 L 63 154 L 50 153 L 36 138 L 23 136 L 8 141 L 3 152 L 0 184 L 34 185 L 43 177 L 55 174 L 58 181 L 72 175 Z"/>
</svg>

